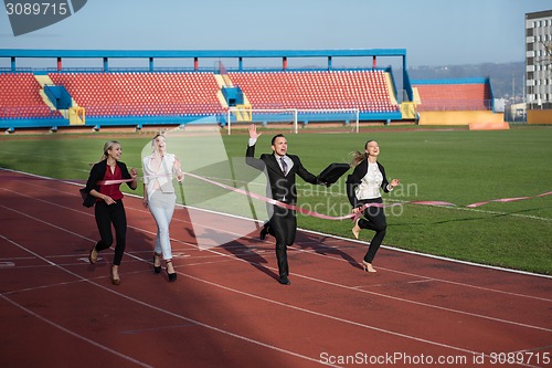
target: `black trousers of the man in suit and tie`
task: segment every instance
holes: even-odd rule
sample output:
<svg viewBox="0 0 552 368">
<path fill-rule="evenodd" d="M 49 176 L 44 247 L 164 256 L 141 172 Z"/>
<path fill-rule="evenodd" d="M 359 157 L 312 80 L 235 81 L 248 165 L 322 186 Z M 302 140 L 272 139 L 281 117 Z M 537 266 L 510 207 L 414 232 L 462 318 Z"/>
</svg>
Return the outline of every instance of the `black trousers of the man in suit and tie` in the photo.
<svg viewBox="0 0 552 368">
<path fill-rule="evenodd" d="M 276 238 L 276 260 L 279 275 L 288 276 L 287 245 L 295 243 L 295 234 L 297 233 L 296 211 L 274 206 L 274 212 L 268 223 L 268 233 Z"/>
</svg>

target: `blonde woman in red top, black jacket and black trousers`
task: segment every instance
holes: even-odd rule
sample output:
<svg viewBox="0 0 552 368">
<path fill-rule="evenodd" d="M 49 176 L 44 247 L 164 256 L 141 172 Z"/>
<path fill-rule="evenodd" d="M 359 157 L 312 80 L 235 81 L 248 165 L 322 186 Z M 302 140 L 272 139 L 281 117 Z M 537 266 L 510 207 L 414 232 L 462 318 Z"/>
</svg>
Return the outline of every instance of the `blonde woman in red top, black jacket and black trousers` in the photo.
<svg viewBox="0 0 552 368">
<path fill-rule="evenodd" d="M 96 198 L 94 214 L 98 227 L 100 241 L 91 250 L 88 260 L 92 264 L 98 260 L 98 252 L 108 249 L 113 243 L 112 223 L 115 229 L 115 256 L 112 266 L 112 283 L 120 284 L 119 265 L 126 246 L 127 217 L 123 206 L 123 193 L 119 189 L 120 182 L 109 183 L 108 180 L 128 180 L 130 189 L 136 189 L 138 171 L 132 168 L 130 172 L 124 162 L 120 162 L 123 150 L 116 140 L 109 140 L 104 145 L 102 160 L 92 167 L 86 192 Z"/>
</svg>

